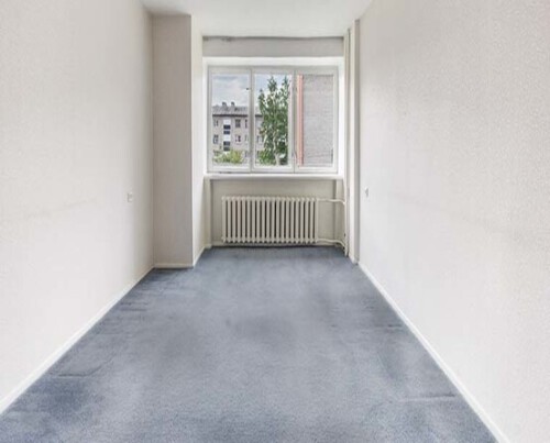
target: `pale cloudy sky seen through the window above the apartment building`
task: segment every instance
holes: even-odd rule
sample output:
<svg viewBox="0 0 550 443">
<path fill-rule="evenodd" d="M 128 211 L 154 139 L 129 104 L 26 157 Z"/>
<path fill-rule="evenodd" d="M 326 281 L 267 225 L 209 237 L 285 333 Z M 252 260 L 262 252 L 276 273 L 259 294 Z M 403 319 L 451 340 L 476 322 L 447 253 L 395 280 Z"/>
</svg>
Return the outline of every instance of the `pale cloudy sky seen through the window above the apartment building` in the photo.
<svg viewBox="0 0 550 443">
<path fill-rule="evenodd" d="M 255 97 L 261 89 L 267 88 L 271 74 L 255 74 Z M 285 78 L 284 75 L 274 75 L 277 84 Z M 248 74 L 215 74 L 212 76 L 212 104 L 221 104 L 223 101 L 230 104 L 232 101 L 238 107 L 249 106 L 250 77 Z"/>
</svg>

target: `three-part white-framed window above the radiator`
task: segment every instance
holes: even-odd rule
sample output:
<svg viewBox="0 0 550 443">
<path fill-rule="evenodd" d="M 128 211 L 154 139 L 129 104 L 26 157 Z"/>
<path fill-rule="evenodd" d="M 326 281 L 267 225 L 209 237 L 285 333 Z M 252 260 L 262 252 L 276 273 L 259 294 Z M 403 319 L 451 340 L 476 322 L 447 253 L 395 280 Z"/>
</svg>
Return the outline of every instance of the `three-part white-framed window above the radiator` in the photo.
<svg viewBox="0 0 550 443">
<path fill-rule="evenodd" d="M 216 67 L 209 91 L 210 170 L 336 170 L 338 68 Z"/>
</svg>

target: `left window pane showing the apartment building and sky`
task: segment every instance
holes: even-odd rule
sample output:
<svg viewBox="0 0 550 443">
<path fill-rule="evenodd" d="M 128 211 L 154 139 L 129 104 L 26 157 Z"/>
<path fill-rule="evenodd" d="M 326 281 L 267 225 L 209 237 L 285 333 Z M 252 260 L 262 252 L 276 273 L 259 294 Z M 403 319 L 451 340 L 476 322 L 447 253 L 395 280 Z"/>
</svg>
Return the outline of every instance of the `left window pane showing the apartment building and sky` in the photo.
<svg viewBox="0 0 550 443">
<path fill-rule="evenodd" d="M 244 167 L 250 163 L 246 129 L 249 118 L 250 75 L 212 75 L 211 146 L 215 167 Z"/>
</svg>

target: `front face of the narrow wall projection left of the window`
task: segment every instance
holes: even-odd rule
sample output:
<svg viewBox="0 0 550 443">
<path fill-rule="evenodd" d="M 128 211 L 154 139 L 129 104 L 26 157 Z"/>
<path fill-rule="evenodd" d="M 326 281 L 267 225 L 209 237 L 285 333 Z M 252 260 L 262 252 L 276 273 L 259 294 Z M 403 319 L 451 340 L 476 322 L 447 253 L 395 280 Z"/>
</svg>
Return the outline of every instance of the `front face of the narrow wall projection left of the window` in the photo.
<svg viewBox="0 0 550 443">
<path fill-rule="evenodd" d="M 157 266 L 191 266 L 191 19 L 153 18 L 154 251 Z"/>
</svg>

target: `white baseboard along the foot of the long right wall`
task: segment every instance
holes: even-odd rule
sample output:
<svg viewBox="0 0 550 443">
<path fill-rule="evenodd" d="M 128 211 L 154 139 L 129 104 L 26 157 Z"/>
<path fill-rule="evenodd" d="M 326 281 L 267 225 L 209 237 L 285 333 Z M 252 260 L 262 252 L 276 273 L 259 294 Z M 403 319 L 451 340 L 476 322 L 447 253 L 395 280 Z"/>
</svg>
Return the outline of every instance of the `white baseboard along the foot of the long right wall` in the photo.
<svg viewBox="0 0 550 443">
<path fill-rule="evenodd" d="M 359 267 L 366 275 L 369 280 L 374 285 L 374 287 L 378 290 L 378 292 L 386 299 L 392 309 L 397 313 L 397 315 L 403 320 L 403 322 L 408 326 L 408 329 L 413 332 L 413 334 L 417 337 L 417 340 L 422 344 L 422 346 L 428 351 L 430 356 L 436 361 L 441 370 L 447 375 L 447 377 L 451 380 L 451 383 L 457 387 L 459 392 L 464 397 L 464 400 L 470 405 L 470 407 L 474 410 L 477 417 L 483 421 L 483 423 L 488 428 L 488 430 L 493 433 L 495 439 L 502 443 L 509 443 L 509 439 L 504 434 L 504 432 L 498 428 L 498 425 L 491 419 L 490 414 L 485 411 L 485 409 L 480 405 L 477 399 L 473 396 L 472 392 L 465 387 L 465 385 L 461 381 L 461 379 L 457 376 L 457 374 L 451 369 L 451 367 L 444 362 L 441 355 L 433 348 L 428 339 L 426 339 L 420 330 L 413 323 L 413 321 L 402 311 L 397 302 L 389 296 L 389 294 L 384 289 L 382 284 L 372 275 L 372 273 L 367 269 L 367 267 L 359 263 Z"/>
</svg>

